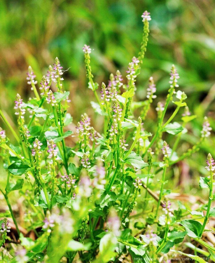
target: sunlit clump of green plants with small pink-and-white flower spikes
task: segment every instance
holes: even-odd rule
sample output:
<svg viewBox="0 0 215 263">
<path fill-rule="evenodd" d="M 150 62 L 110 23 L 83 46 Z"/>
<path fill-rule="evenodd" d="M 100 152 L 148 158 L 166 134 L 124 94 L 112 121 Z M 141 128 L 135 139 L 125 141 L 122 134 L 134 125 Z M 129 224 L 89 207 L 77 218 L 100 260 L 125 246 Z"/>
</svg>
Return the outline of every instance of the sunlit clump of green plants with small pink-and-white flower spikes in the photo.
<svg viewBox="0 0 215 263">
<path fill-rule="evenodd" d="M 103 118 L 99 131 L 91 126 L 87 113 L 80 116 L 75 132 L 67 129 L 73 121 L 67 113 L 72 98 L 64 90 L 64 70 L 58 58 L 40 85 L 29 66 L 27 80 L 35 97 L 27 102 L 19 94 L 15 98 L 19 134 L 0 110 L 7 127 L 0 131 L 1 157 L 7 173 L 6 187 L 1 186 L 0 191 L 10 212 L 1 220 L 3 262 L 170 262 L 170 258 L 179 262 L 175 258 L 182 256 L 196 262 L 214 261 L 214 247 L 202 238 L 205 231 L 214 231 L 210 226 L 206 229 L 210 217 L 215 216 L 215 162 L 210 153 L 207 175 L 200 177 L 200 188 L 208 188 L 207 203 L 187 212 L 183 203 L 167 198 L 165 189 L 170 167 L 191 157 L 210 136 L 207 117 L 198 142 L 179 156 L 181 135 L 188 132 L 186 125 L 196 116 L 189 111 L 186 94 L 179 90 L 175 66 L 170 69 L 165 103 L 158 102 L 156 107 L 155 130 L 144 127 L 156 98 L 152 77 L 146 99 L 133 100 L 150 20 L 150 13 L 145 11 L 140 53 L 129 63 L 126 79 L 117 71 L 110 75 L 107 85 L 95 83 L 91 48 L 83 47 L 88 88 L 96 100 L 91 105 Z M 172 102 L 175 110 L 167 118 Z M 181 108 L 184 113 L 179 123 L 175 116 Z M 16 144 L 10 143 L 7 130 Z M 172 141 L 163 140 L 166 133 L 174 136 Z M 66 145 L 68 136 L 77 139 L 74 147 Z M 150 187 L 156 181 L 159 187 L 152 191 Z M 13 213 L 10 193 L 15 190 L 24 200 L 26 229 L 34 232 L 34 238 L 24 234 Z M 10 235 L 12 221 L 16 237 Z M 187 254 L 184 246 L 193 253 Z"/>
</svg>

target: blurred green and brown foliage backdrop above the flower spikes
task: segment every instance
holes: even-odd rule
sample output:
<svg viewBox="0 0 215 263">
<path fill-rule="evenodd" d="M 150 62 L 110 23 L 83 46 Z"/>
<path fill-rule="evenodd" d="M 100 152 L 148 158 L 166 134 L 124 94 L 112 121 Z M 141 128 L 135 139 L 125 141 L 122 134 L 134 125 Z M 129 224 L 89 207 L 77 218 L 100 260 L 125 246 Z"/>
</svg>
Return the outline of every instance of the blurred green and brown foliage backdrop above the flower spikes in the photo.
<svg viewBox="0 0 215 263">
<path fill-rule="evenodd" d="M 198 115 L 187 127 L 192 133 L 183 137 L 179 151 L 198 141 L 205 115 L 214 130 L 213 0 L 1 0 L 0 107 L 11 123 L 16 123 L 13 110 L 16 93 L 24 100 L 33 96 L 26 81 L 28 66 L 34 69 L 39 83 L 56 56 L 64 70 L 68 69 L 64 73 L 64 87 L 70 91 L 69 111 L 74 123 L 84 112 L 93 117 L 90 101 L 95 99 L 87 88 L 82 47 L 87 44 L 93 49 L 91 66 L 99 85 L 102 81 L 107 83 L 110 73 L 117 69 L 125 78 L 128 63 L 140 50 L 141 14 L 146 9 L 152 20 L 146 56 L 136 82 L 136 100 L 145 98 L 148 78 L 152 75 L 157 85 L 154 106 L 158 101 L 165 101 L 169 71 L 175 64 L 180 75 L 179 88 L 187 94 L 191 112 Z M 156 120 L 154 108 L 145 123 L 151 132 Z M 168 114 L 173 110 L 171 104 Z M 99 131 L 100 119 L 98 116 L 93 119 Z M 168 136 L 171 145 L 174 138 Z M 198 172 L 204 172 L 205 155 L 209 151 L 215 155 L 214 141 L 214 137 L 210 138 L 201 152 L 189 160 L 189 165 Z"/>
</svg>

